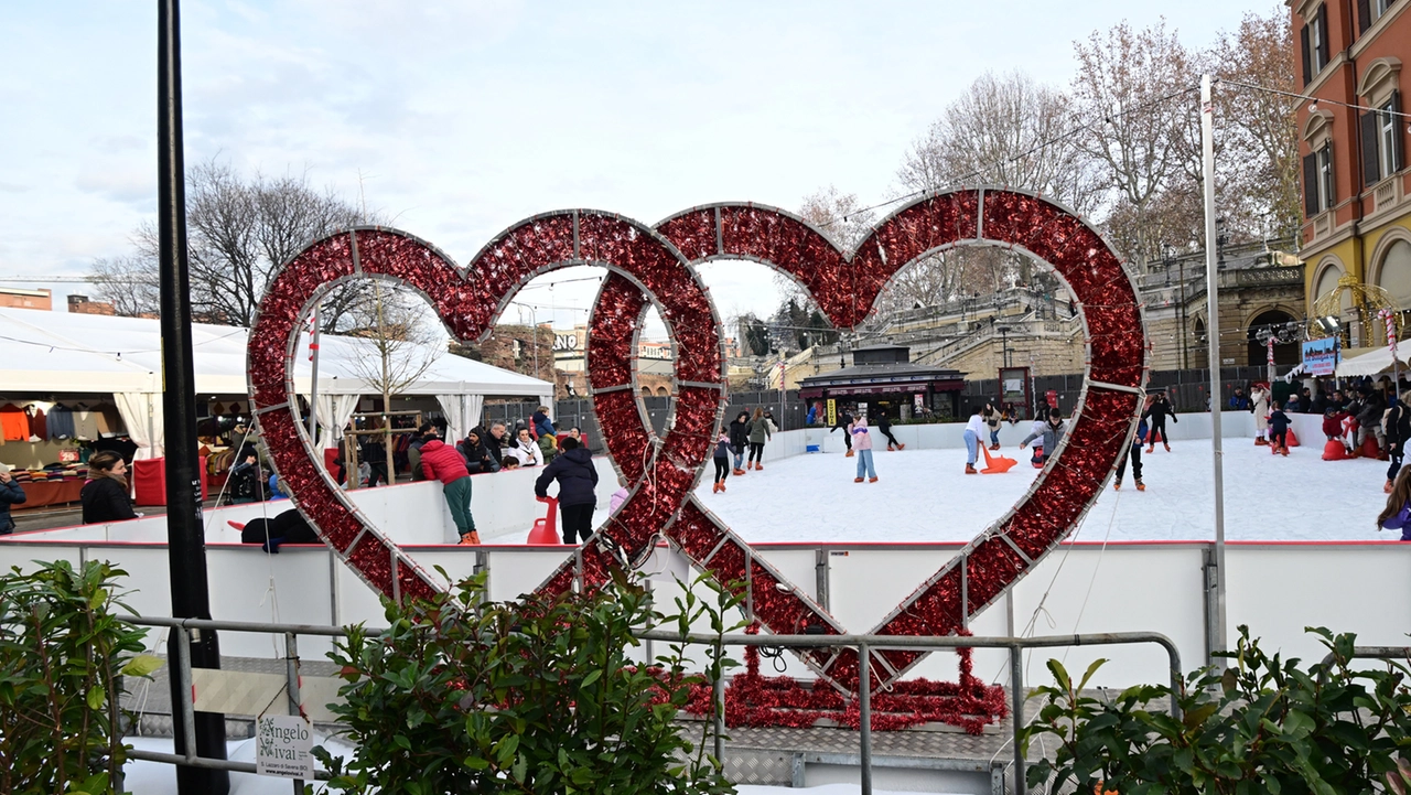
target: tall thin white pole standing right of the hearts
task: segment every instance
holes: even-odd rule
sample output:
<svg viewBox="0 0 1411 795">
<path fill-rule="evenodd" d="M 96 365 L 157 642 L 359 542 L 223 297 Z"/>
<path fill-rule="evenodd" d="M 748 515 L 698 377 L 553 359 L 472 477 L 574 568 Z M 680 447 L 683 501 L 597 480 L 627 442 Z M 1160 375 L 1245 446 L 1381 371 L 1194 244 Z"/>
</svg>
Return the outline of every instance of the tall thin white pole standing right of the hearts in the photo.
<svg viewBox="0 0 1411 795">
<path fill-rule="evenodd" d="M 1205 333 L 1211 364 L 1211 448 L 1215 472 L 1215 633 L 1211 651 L 1225 651 L 1225 469 L 1221 439 L 1221 304 L 1216 281 L 1215 240 L 1215 103 L 1211 99 L 1211 76 L 1201 75 L 1201 160 L 1205 169 Z M 1211 659 L 1212 665 L 1223 659 Z"/>
</svg>

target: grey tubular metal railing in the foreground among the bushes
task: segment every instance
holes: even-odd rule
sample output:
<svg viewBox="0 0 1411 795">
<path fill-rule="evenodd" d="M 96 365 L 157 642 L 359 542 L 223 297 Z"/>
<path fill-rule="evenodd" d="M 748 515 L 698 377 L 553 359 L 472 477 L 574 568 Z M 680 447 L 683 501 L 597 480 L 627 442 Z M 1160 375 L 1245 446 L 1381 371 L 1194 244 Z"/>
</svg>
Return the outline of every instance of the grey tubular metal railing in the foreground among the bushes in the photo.
<svg viewBox="0 0 1411 795">
<path fill-rule="evenodd" d="M 347 633 L 341 627 L 320 627 L 313 624 L 272 624 L 272 623 L 253 623 L 253 621 L 214 621 L 202 618 L 162 618 L 162 617 L 145 617 L 133 616 L 127 617 L 127 621 L 143 626 L 143 627 L 166 627 L 175 630 L 175 654 L 172 662 L 175 662 L 172 675 L 178 676 L 179 688 L 179 705 L 174 705 L 175 709 L 181 709 L 182 716 L 182 740 L 185 746 L 185 754 L 165 754 L 159 751 L 141 751 L 133 750 L 128 753 L 130 758 L 155 761 L 165 764 L 178 764 L 200 768 L 226 770 L 234 772 L 255 772 L 257 768 L 251 763 L 237 763 L 230 760 L 216 760 L 209 757 L 202 757 L 196 753 L 196 733 L 195 733 L 195 696 L 192 692 L 192 667 L 190 667 L 190 633 L 202 630 L 214 631 L 238 631 L 238 633 L 262 633 L 262 634 L 277 634 L 285 638 L 285 661 L 286 661 L 286 676 L 288 676 L 288 696 L 291 710 L 299 713 L 299 655 L 298 655 L 298 635 L 319 635 L 319 637 L 346 637 Z M 739 647 L 768 647 L 768 648 L 852 648 L 858 652 L 859 671 L 858 679 L 861 682 L 871 681 L 872 675 L 872 651 L 878 650 L 921 650 L 921 651 L 937 651 L 937 650 L 957 650 L 957 648 L 1003 648 L 1009 651 L 1009 668 L 1010 668 L 1010 710 L 1012 710 L 1012 726 L 1015 744 L 1015 781 L 1016 792 L 1023 791 L 1024 782 L 1024 768 L 1026 760 L 1023 750 L 1019 743 L 1020 731 L 1024 727 L 1024 671 L 1023 671 L 1023 652 L 1024 650 L 1033 648 L 1058 648 L 1058 647 L 1078 647 L 1078 645 L 1115 645 L 1115 644 L 1157 644 L 1163 647 L 1167 652 L 1170 661 L 1170 675 L 1171 675 L 1171 715 L 1180 717 L 1180 705 L 1174 698 L 1174 693 L 1180 692 L 1181 686 L 1181 654 L 1175 648 L 1175 644 L 1164 634 L 1160 633 L 1102 633 L 1102 634 L 1072 634 L 1072 635 L 1040 635 L 1040 637 L 982 637 L 982 635 L 916 635 L 916 637 L 899 637 L 899 635 L 749 635 L 749 634 L 725 634 L 713 635 L 704 633 L 686 634 L 669 633 L 662 630 L 650 630 L 638 633 L 636 637 L 643 641 L 662 641 L 673 644 L 689 644 L 689 645 L 739 645 Z M 1364 651 L 1364 650 L 1359 650 Z M 1383 651 L 1383 650 L 1374 650 Z M 1404 654 L 1407 650 L 1394 650 L 1397 654 Z M 713 683 L 715 693 L 715 715 L 714 722 L 714 751 L 715 758 L 721 765 L 725 761 L 725 719 L 724 719 L 724 679 L 715 679 Z M 872 795 L 872 693 L 869 689 L 864 688 L 858 693 L 858 712 L 859 712 L 859 730 L 858 730 L 858 748 L 859 748 L 859 768 L 862 778 L 862 795 Z M 327 771 L 317 771 L 316 778 L 323 781 L 329 778 Z M 293 779 L 295 792 L 303 791 L 303 782 Z"/>
</svg>

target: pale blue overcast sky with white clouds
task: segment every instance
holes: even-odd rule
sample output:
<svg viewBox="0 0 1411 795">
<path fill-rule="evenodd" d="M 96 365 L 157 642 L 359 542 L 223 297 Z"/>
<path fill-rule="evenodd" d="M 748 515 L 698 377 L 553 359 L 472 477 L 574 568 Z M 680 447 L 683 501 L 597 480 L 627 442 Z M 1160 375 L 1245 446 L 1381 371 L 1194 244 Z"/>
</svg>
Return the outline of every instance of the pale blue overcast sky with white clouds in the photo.
<svg viewBox="0 0 1411 795">
<path fill-rule="evenodd" d="M 715 201 L 797 209 L 830 184 L 883 201 L 906 148 L 986 71 L 1064 85 L 1094 30 L 1164 14 L 1202 47 L 1274 7 L 188 1 L 186 162 L 306 172 L 350 199 L 361 174 L 370 208 L 466 263 L 560 208 L 656 223 Z M 0 30 L 0 284 L 80 275 L 155 217 L 157 3 L 6 0 Z M 701 273 L 725 316 L 777 304 L 762 265 Z M 567 325 L 591 295 L 580 281 L 522 299 Z"/>
</svg>

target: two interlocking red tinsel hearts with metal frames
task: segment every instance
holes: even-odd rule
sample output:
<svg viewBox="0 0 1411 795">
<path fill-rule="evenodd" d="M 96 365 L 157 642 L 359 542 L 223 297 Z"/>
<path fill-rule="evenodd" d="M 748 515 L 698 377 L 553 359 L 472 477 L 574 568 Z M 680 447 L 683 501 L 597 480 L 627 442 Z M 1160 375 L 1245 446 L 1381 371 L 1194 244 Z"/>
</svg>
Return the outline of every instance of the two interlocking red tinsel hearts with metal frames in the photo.
<svg viewBox="0 0 1411 795">
<path fill-rule="evenodd" d="M 769 631 L 844 634 L 694 497 L 727 395 L 720 318 L 693 264 L 745 258 L 770 265 L 807 288 L 835 328 L 852 329 L 897 271 L 976 244 L 1020 250 L 1054 268 L 1077 298 L 1086 366 L 1068 432 L 1024 497 L 871 630 L 955 634 L 1078 525 L 1130 443 L 1146 384 L 1146 328 L 1132 278 L 1096 230 L 1040 196 L 996 188 L 926 195 L 851 253 L 797 216 L 752 203 L 693 208 L 656 227 L 597 210 L 538 215 L 497 236 L 464 268 L 404 232 L 340 232 L 312 243 L 271 280 L 250 332 L 250 395 L 274 469 L 329 546 L 373 589 L 392 599 L 429 597 L 440 580 L 353 507 L 296 418 L 302 321 L 337 284 L 375 278 L 416 289 L 454 337 L 476 340 L 492 332 L 529 280 L 570 265 L 605 267 L 590 318 L 588 378 L 602 438 L 632 493 L 601 528 L 604 542 L 570 556 L 540 590 L 594 587 L 615 561 L 641 561 L 666 538 L 718 582 L 744 587 L 746 613 Z M 672 419 L 662 438 L 646 422 L 634 374 L 636 333 L 653 302 L 676 352 Z M 924 652 L 869 655 L 875 688 L 900 678 Z M 858 691 L 855 651 L 818 648 L 800 657 L 821 679 Z"/>
</svg>

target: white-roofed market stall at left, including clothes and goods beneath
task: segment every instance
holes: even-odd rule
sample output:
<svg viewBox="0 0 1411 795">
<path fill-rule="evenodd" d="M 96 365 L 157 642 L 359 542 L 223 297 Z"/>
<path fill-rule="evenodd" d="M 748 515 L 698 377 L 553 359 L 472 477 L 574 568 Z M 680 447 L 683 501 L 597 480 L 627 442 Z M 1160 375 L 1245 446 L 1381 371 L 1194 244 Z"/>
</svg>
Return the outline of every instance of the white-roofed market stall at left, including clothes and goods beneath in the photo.
<svg viewBox="0 0 1411 795">
<path fill-rule="evenodd" d="M 192 325 L 198 434 L 202 455 L 210 462 L 207 474 L 213 489 L 224 473 L 220 465 L 233 458 L 230 448 L 241 443 L 243 429 L 251 421 L 247 336 L 243 328 Z M 0 462 L 31 473 L 23 483 L 34 483 L 37 489 L 25 508 L 76 500 L 76 487 L 55 486 L 62 486 L 58 482 L 69 473 L 80 487 L 83 477 L 76 474 L 78 467 L 96 449 L 119 449 L 135 462 L 134 469 L 148 469 L 143 462 L 162 459 L 157 319 L 0 308 L 0 340 L 6 346 Z M 299 345 L 308 349 L 308 340 Z M 398 356 L 416 360 L 420 370 L 398 390 L 398 397 L 426 401 L 429 410 L 444 418 L 453 438 L 480 422 L 487 398 L 550 402 L 553 397 L 553 384 L 547 381 L 440 349 L 399 343 Z M 298 359 L 295 390 L 306 404 L 310 361 L 306 356 Z M 378 360 L 374 340 L 320 337 L 315 407 L 319 446 L 337 445 L 360 404 L 364 411 L 373 408 L 371 395 L 380 395 L 381 388 L 368 363 Z M 151 467 L 159 469 L 159 465 Z"/>
</svg>

